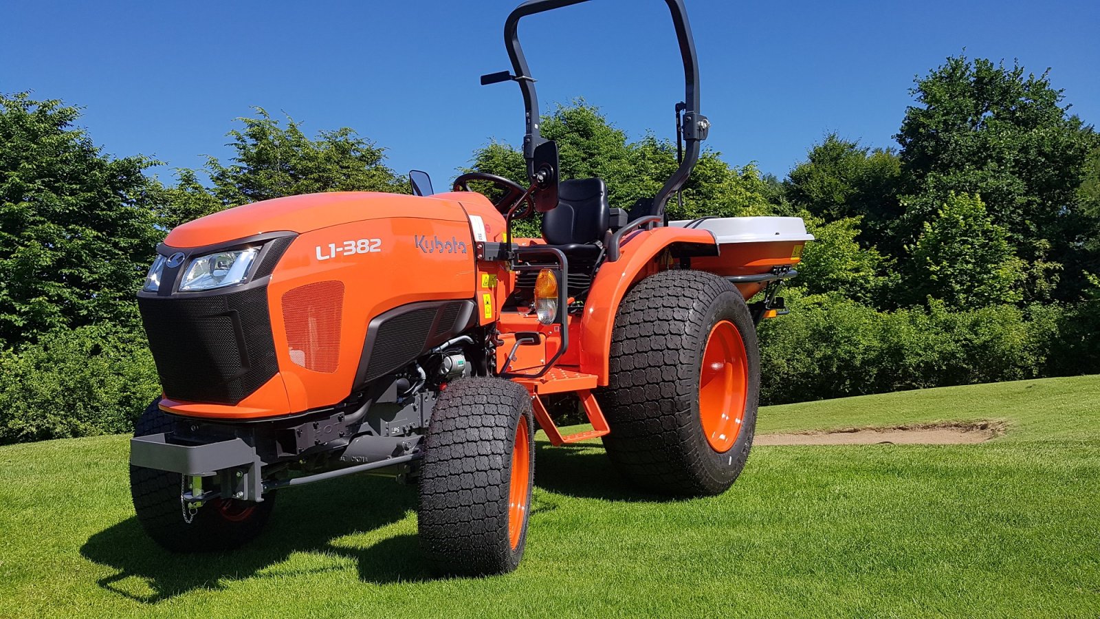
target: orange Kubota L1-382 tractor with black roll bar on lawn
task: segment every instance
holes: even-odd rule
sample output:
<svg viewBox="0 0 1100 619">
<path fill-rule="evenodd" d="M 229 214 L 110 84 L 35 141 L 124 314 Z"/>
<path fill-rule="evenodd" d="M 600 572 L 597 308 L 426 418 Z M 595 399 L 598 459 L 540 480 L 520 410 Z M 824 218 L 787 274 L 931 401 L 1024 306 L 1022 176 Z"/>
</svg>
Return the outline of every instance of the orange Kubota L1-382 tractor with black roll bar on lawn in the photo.
<svg viewBox="0 0 1100 619">
<path fill-rule="evenodd" d="M 666 0 L 686 78 L 679 169 L 629 213 L 601 178 L 559 178 L 517 25 L 582 1 L 518 7 L 505 25 L 514 73 L 482 77 L 522 91 L 527 186 L 472 172 L 432 194 L 414 172 L 416 195 L 285 197 L 168 234 L 139 293 L 164 395 L 130 456 L 156 542 L 229 549 L 258 534 L 285 488 L 388 473 L 419 484 L 435 566 L 508 572 L 526 543 L 536 427 L 553 445 L 601 437 L 650 491 L 734 482 L 757 415 L 756 323 L 783 311 L 776 292 L 812 237 L 798 218 L 664 216 L 710 127 L 682 0 Z M 536 211 L 542 238 L 514 238 Z M 563 435 L 548 401 L 572 402 L 592 430 Z"/>
</svg>

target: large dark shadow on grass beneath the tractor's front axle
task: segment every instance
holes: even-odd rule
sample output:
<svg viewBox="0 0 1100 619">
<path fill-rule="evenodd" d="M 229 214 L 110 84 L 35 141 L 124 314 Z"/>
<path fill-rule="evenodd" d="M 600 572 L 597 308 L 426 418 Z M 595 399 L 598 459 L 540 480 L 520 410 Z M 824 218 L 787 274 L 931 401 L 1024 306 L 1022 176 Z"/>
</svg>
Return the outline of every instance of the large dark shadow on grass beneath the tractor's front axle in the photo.
<svg viewBox="0 0 1100 619">
<path fill-rule="evenodd" d="M 144 604 L 156 604 L 198 588 L 220 589 L 224 586 L 222 580 L 276 577 L 277 573 L 266 571 L 295 553 L 323 553 L 351 560 L 365 583 L 429 580 L 433 576 L 420 556 L 414 534 L 394 535 L 367 547 L 338 542 L 404 520 L 409 510 L 416 509 L 416 501 L 414 487 L 399 486 L 386 478 L 354 476 L 282 492 L 263 534 L 232 552 L 169 553 L 153 543 L 138 519 L 131 517 L 91 535 L 80 547 L 80 554 L 118 571 L 99 579 L 100 587 Z M 317 571 L 341 569 L 345 567 L 331 565 Z"/>
</svg>

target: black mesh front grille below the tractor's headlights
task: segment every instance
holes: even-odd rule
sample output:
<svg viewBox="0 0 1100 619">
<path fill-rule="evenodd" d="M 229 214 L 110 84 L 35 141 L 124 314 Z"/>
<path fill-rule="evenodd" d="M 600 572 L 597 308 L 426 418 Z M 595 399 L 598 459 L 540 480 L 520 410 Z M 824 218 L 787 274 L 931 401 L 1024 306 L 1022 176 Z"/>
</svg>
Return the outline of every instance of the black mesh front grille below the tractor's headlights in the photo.
<svg viewBox="0 0 1100 619">
<path fill-rule="evenodd" d="M 170 399 L 237 404 L 278 371 L 264 287 L 138 305 Z"/>
</svg>

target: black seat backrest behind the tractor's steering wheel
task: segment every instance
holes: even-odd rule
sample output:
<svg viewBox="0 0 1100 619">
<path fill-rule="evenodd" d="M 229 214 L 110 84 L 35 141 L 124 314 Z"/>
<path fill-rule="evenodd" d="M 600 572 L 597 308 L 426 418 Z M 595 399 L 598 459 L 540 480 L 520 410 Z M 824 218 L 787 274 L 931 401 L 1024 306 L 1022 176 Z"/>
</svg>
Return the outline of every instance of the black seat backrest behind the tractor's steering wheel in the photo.
<svg viewBox="0 0 1100 619">
<path fill-rule="evenodd" d="M 542 238 L 549 245 L 601 240 L 610 228 L 607 185 L 603 178 L 574 178 L 558 184 L 558 208 L 542 216 Z"/>
</svg>

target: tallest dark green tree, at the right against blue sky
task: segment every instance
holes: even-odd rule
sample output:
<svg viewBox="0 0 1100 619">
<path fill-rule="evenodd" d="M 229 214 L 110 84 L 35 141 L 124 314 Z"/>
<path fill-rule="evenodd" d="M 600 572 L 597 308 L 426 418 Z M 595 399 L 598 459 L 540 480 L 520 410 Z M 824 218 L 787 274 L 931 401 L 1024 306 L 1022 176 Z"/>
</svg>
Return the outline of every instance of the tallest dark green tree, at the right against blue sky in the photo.
<svg viewBox="0 0 1100 619">
<path fill-rule="evenodd" d="M 949 57 L 912 94 L 917 105 L 897 135 L 909 196 L 901 240 L 913 242 L 953 192 L 980 195 L 1018 254 L 1042 264 L 1031 275 L 1046 279 L 1028 290 L 1052 290 L 1063 264 L 1079 271 L 1088 229 L 1078 187 L 1097 134 L 1069 115 L 1047 73 Z M 1062 289 L 1060 296 L 1079 292 Z"/>
</svg>

